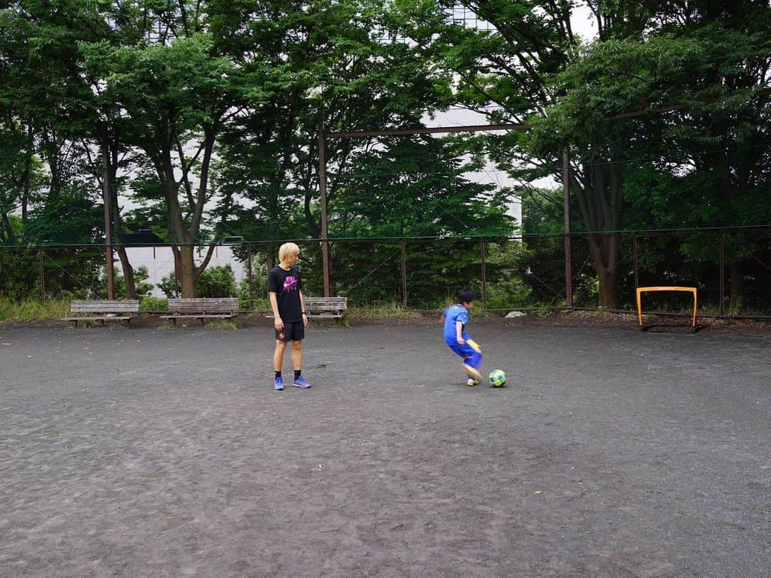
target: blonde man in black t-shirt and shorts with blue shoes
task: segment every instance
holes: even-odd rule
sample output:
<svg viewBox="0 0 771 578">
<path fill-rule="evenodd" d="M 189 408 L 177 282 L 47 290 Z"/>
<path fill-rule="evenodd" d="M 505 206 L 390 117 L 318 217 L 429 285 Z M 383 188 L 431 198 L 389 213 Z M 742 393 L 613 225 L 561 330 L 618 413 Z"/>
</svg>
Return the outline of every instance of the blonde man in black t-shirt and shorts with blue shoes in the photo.
<svg viewBox="0 0 771 578">
<path fill-rule="evenodd" d="M 294 243 L 284 243 L 278 249 L 278 267 L 273 267 L 268 273 L 268 297 L 271 300 L 273 325 L 276 330 L 276 351 L 273 354 L 276 391 L 284 391 L 281 366 L 284 364 L 284 351 L 288 343 L 291 343 L 291 362 L 295 369 L 292 385 L 302 389 L 311 387 L 302 376 L 302 340 L 305 338 L 308 316 L 302 301 L 300 271 L 295 267 L 299 257 L 300 247 Z"/>
</svg>

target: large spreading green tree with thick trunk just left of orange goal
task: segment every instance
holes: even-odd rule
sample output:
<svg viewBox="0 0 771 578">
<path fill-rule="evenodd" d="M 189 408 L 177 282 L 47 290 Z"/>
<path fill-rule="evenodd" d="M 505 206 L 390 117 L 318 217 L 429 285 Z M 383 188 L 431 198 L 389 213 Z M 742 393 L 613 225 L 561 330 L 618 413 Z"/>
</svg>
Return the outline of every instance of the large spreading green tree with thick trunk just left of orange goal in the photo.
<svg viewBox="0 0 771 578">
<path fill-rule="evenodd" d="M 629 209 L 624 183 L 656 133 L 648 131 L 655 125 L 648 120 L 622 126 L 602 119 L 656 106 L 707 106 L 706 96 L 712 92 L 715 102 L 715 90 L 749 96 L 729 87 L 739 69 L 768 69 L 759 59 L 767 46 L 758 35 L 768 28 L 767 2 L 460 4 L 490 23 L 490 30 L 453 22 L 450 2 L 404 0 L 393 13 L 402 33 L 454 75 L 460 102 L 482 112 L 492 104 L 491 119 L 536 126 L 530 135 L 485 137 L 490 156 L 513 176 L 530 182 L 561 179 L 562 151 L 570 148 L 571 193 L 581 208 L 574 229 L 600 233 L 587 237 L 591 267 L 600 281 L 599 303 L 614 306 L 619 259 L 614 231 L 624 226 Z M 571 15 L 581 5 L 597 24 L 598 38 L 588 44 L 571 28 Z M 705 35 L 727 41 L 726 32 L 745 35 L 744 49 L 732 52 L 725 43 L 717 51 L 699 48 Z M 685 54 L 678 54 L 684 45 Z M 700 50 L 702 60 L 689 58 Z M 750 84 L 757 89 L 765 73 Z M 747 101 L 748 108 L 762 104 Z M 658 143 L 659 157 L 663 150 Z"/>
</svg>

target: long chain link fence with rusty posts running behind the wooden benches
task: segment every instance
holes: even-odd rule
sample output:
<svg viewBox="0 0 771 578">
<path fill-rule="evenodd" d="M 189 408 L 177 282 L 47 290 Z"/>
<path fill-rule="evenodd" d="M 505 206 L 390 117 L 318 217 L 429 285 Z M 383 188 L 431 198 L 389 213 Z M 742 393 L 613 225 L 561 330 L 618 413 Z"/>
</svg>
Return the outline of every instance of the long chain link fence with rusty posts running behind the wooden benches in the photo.
<svg viewBox="0 0 771 578">
<path fill-rule="evenodd" d="M 480 306 L 489 310 L 573 306 L 633 311 L 635 287 L 676 285 L 698 288 L 702 314 L 771 316 L 771 227 L 574 234 L 569 264 L 565 241 L 561 235 L 332 240 L 329 284 L 333 295 L 348 297 L 350 307 L 416 311 L 446 306 L 462 287 L 476 291 Z M 305 294 L 322 296 L 322 243 L 301 240 L 298 245 Z M 234 277 L 222 291 L 240 297 L 244 309 L 267 309 L 267 273 L 276 264 L 278 246 L 260 242 L 218 247 L 219 260 L 210 267 L 227 265 L 227 274 Z M 153 261 L 146 267 L 143 291 L 159 296 L 158 287 L 168 284 L 173 274 L 173 255 L 169 247 L 147 247 L 145 252 L 150 250 Z M 128 254 L 132 259 L 137 255 L 132 250 Z M 205 248 L 196 254 L 200 263 Z M 0 249 L 0 296 L 16 301 L 104 298 L 105 263 L 106 251 L 99 246 Z M 114 266 L 116 298 L 123 298 L 117 256 Z M 677 312 L 687 307 L 678 295 L 646 297 L 646 310 Z"/>
</svg>

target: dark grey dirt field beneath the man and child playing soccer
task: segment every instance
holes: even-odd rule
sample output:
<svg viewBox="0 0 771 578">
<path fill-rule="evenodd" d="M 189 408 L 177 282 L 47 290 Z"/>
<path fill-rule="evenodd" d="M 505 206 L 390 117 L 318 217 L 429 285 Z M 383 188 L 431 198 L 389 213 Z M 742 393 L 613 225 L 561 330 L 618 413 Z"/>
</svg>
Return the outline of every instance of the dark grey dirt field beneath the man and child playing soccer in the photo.
<svg viewBox="0 0 771 578">
<path fill-rule="evenodd" d="M 769 576 L 771 336 L 470 333 L 0 331 L 0 575 Z"/>
</svg>

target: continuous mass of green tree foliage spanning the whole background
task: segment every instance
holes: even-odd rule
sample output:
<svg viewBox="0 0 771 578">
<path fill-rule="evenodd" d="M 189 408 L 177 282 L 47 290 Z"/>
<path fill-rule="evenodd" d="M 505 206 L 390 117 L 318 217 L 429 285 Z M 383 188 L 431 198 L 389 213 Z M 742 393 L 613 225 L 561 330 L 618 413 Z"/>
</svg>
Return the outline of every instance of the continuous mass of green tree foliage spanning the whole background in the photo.
<svg viewBox="0 0 771 578">
<path fill-rule="evenodd" d="M 449 0 L 6 2 L 0 244 L 103 240 L 103 121 L 116 233 L 132 223 L 178 244 L 318 238 L 318 112 L 328 131 L 396 129 L 450 106 L 532 129 L 326 140 L 332 237 L 443 239 L 406 247 L 411 304 L 479 287 L 479 247 L 445 239 L 516 230 L 506 214 L 513 192 L 467 178 L 488 160 L 523 183 L 528 235 L 564 227 L 560 194 L 544 183 L 561 180 L 565 148 L 574 231 L 771 221 L 767 2 L 598 0 L 591 40 L 571 29 L 588 2 L 462 4 L 492 28 L 455 22 Z M 655 113 L 632 114 L 645 110 Z M 651 242 L 641 267 L 712 283 L 715 239 Z M 274 259 L 277 245 L 255 250 L 255 262 Z M 564 298 L 554 291 L 564 282 L 561 240 L 504 245 L 489 255 L 491 304 Z M 628 291 L 618 260 L 628 250 L 613 234 L 574 244 L 577 298 L 612 306 Z M 733 306 L 754 306 L 766 277 L 746 268 L 764 258 L 766 239 L 729 236 L 725 250 Z M 250 296 L 221 271 L 194 278 L 192 258 L 180 254 L 186 292 L 264 298 L 262 265 Z M 318 245 L 303 258 L 307 291 L 318 294 Z M 46 294 L 100 294 L 102 260 L 98 249 L 46 251 Z M 332 260 L 338 294 L 402 300 L 398 240 L 336 243 Z M 39 277 L 34 252 L 0 254 L 0 294 L 39 294 Z M 162 286 L 173 294 L 172 277 Z"/>
</svg>

